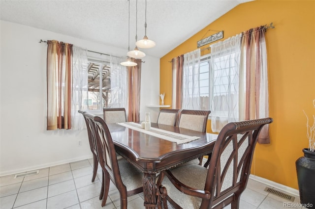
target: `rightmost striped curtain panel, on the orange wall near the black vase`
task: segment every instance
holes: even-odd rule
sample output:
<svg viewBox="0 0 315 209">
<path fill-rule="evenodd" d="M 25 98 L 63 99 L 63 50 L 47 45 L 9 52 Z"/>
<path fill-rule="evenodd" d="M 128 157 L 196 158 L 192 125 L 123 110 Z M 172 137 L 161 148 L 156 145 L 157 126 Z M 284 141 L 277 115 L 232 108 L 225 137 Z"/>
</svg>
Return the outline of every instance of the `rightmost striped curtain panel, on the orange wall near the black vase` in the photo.
<svg viewBox="0 0 315 209">
<path fill-rule="evenodd" d="M 240 78 L 244 78 L 245 94 L 240 98 L 240 120 L 252 120 L 269 117 L 267 50 L 265 26 L 259 26 L 243 32 L 241 44 Z M 243 81 L 242 81 L 243 82 Z M 258 143 L 269 144 L 269 124 L 259 133 Z"/>
</svg>

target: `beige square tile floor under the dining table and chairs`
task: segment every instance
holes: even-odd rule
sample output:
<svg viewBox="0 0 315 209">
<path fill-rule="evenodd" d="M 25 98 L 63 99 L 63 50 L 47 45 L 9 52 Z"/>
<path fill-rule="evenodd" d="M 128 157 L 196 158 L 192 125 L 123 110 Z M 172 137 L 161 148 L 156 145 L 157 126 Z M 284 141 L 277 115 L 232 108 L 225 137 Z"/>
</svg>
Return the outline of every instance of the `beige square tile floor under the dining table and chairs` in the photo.
<svg viewBox="0 0 315 209">
<path fill-rule="evenodd" d="M 40 169 L 39 174 L 28 177 L 0 177 L 0 209 L 119 209 L 119 192 L 113 184 L 106 205 L 101 207 L 101 169 L 94 183 L 92 172 L 93 160 L 86 159 Z M 284 203 L 289 201 L 265 192 L 265 186 L 250 179 L 241 196 L 240 209 L 288 208 Z M 128 197 L 128 209 L 144 209 L 143 202 L 143 193 Z M 298 202 L 295 197 L 294 203 Z"/>
</svg>

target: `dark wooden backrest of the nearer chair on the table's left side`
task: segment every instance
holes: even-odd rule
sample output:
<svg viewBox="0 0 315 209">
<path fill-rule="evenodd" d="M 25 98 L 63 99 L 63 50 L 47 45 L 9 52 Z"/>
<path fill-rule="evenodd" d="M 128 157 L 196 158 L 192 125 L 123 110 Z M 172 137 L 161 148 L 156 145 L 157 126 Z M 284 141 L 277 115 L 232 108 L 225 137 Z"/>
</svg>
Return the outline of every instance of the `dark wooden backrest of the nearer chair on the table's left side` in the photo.
<svg viewBox="0 0 315 209">
<path fill-rule="evenodd" d="M 121 179 L 112 136 L 105 121 L 102 118 L 90 113 L 85 113 L 85 116 L 89 126 L 91 127 L 91 132 L 95 136 L 97 159 L 100 166 L 103 171 L 108 173 L 110 179 L 117 188 L 126 188 Z"/>
</svg>

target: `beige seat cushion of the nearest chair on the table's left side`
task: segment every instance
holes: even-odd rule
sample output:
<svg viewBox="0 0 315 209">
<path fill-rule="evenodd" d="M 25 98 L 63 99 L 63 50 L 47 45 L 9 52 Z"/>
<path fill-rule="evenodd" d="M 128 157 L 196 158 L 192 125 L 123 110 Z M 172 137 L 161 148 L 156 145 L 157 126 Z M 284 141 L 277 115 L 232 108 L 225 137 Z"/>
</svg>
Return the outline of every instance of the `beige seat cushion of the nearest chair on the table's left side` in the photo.
<svg viewBox="0 0 315 209">
<path fill-rule="evenodd" d="M 118 166 L 123 183 L 127 191 L 143 186 L 143 173 L 134 167 L 125 158 L 118 160 Z"/>
</svg>

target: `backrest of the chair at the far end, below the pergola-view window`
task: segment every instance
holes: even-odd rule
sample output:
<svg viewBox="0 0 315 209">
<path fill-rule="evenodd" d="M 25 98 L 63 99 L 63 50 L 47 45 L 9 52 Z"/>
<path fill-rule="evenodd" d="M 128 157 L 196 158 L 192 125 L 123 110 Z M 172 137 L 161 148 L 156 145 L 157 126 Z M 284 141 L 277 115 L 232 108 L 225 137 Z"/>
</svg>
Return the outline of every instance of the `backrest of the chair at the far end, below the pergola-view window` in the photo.
<svg viewBox="0 0 315 209">
<path fill-rule="evenodd" d="M 123 107 L 103 108 L 103 117 L 106 123 L 127 122 L 126 109 Z"/>
</svg>

